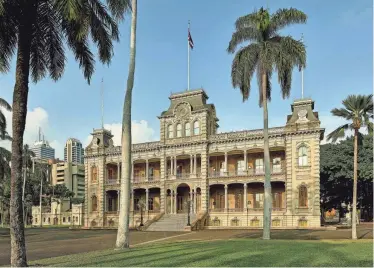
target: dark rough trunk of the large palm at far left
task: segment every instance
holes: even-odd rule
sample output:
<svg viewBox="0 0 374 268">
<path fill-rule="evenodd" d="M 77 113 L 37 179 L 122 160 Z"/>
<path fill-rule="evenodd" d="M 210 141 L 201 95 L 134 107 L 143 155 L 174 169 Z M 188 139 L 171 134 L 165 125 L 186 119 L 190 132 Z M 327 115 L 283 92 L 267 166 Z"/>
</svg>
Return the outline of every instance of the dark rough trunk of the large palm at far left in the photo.
<svg viewBox="0 0 374 268">
<path fill-rule="evenodd" d="M 16 84 L 13 92 L 10 238 L 11 265 L 17 267 L 27 266 L 22 204 L 22 151 L 29 92 L 31 25 L 28 17 L 21 21 L 19 27 Z"/>
</svg>

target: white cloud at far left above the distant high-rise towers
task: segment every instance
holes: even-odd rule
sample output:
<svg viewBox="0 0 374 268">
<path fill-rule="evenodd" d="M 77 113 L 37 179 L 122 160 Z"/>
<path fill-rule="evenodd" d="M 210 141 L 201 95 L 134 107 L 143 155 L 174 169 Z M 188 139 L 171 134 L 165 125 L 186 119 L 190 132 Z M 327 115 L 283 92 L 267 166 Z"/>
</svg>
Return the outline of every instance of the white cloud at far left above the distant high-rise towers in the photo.
<svg viewBox="0 0 374 268">
<path fill-rule="evenodd" d="M 7 120 L 7 131 L 12 136 L 12 112 L 4 111 L 5 118 Z M 26 116 L 26 127 L 23 135 L 23 143 L 32 146 L 38 139 L 39 127 L 42 129 L 42 134 L 45 134 L 45 139 L 50 142 L 50 145 L 56 151 L 56 157 L 63 156 L 63 146 L 57 140 L 51 140 L 48 137 L 49 124 L 48 124 L 48 113 L 41 107 L 36 107 L 31 111 L 27 112 Z M 0 141 L 0 146 L 3 146 L 10 150 L 11 143 L 9 141 Z"/>
</svg>

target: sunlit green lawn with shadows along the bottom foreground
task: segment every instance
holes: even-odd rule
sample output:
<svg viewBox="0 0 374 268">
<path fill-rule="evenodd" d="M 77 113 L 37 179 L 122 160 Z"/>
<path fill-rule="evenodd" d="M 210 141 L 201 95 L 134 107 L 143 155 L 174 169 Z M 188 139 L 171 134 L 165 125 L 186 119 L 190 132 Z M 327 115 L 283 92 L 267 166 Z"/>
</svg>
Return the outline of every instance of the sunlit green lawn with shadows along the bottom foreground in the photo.
<svg viewBox="0 0 374 268">
<path fill-rule="evenodd" d="M 233 239 L 143 245 L 33 261 L 41 266 L 370 266 L 371 240 Z"/>
</svg>

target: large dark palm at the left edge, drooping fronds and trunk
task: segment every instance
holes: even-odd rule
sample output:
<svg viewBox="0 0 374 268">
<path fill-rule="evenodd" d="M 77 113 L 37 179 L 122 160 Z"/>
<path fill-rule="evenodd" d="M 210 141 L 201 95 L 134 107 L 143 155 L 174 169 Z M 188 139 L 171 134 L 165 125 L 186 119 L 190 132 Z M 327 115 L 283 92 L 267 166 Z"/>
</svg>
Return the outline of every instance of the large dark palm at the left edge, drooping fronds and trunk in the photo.
<svg viewBox="0 0 374 268">
<path fill-rule="evenodd" d="M 27 265 L 21 191 L 30 73 L 35 83 L 47 74 L 55 81 L 60 79 L 66 62 L 65 48 L 68 47 L 89 83 L 95 64 L 90 40 L 98 47 L 99 60 L 109 64 L 113 56 L 113 41 L 119 40 L 116 20 L 122 19 L 130 8 L 129 0 L 106 0 L 106 3 L 107 6 L 101 0 L 0 1 L 0 72 L 9 70 L 17 51 L 12 105 L 12 266 Z"/>
</svg>

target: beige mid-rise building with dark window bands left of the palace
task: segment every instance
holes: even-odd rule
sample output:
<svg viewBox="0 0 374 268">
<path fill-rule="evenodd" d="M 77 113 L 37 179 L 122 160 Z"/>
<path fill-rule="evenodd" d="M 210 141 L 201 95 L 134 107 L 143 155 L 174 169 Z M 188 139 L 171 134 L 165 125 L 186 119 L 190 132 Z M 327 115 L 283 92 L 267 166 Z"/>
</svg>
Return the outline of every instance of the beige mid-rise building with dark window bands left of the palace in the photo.
<svg viewBox="0 0 374 268">
<path fill-rule="evenodd" d="M 74 197 L 84 198 L 84 165 L 68 162 L 52 164 L 52 185 L 65 184 Z"/>
</svg>

